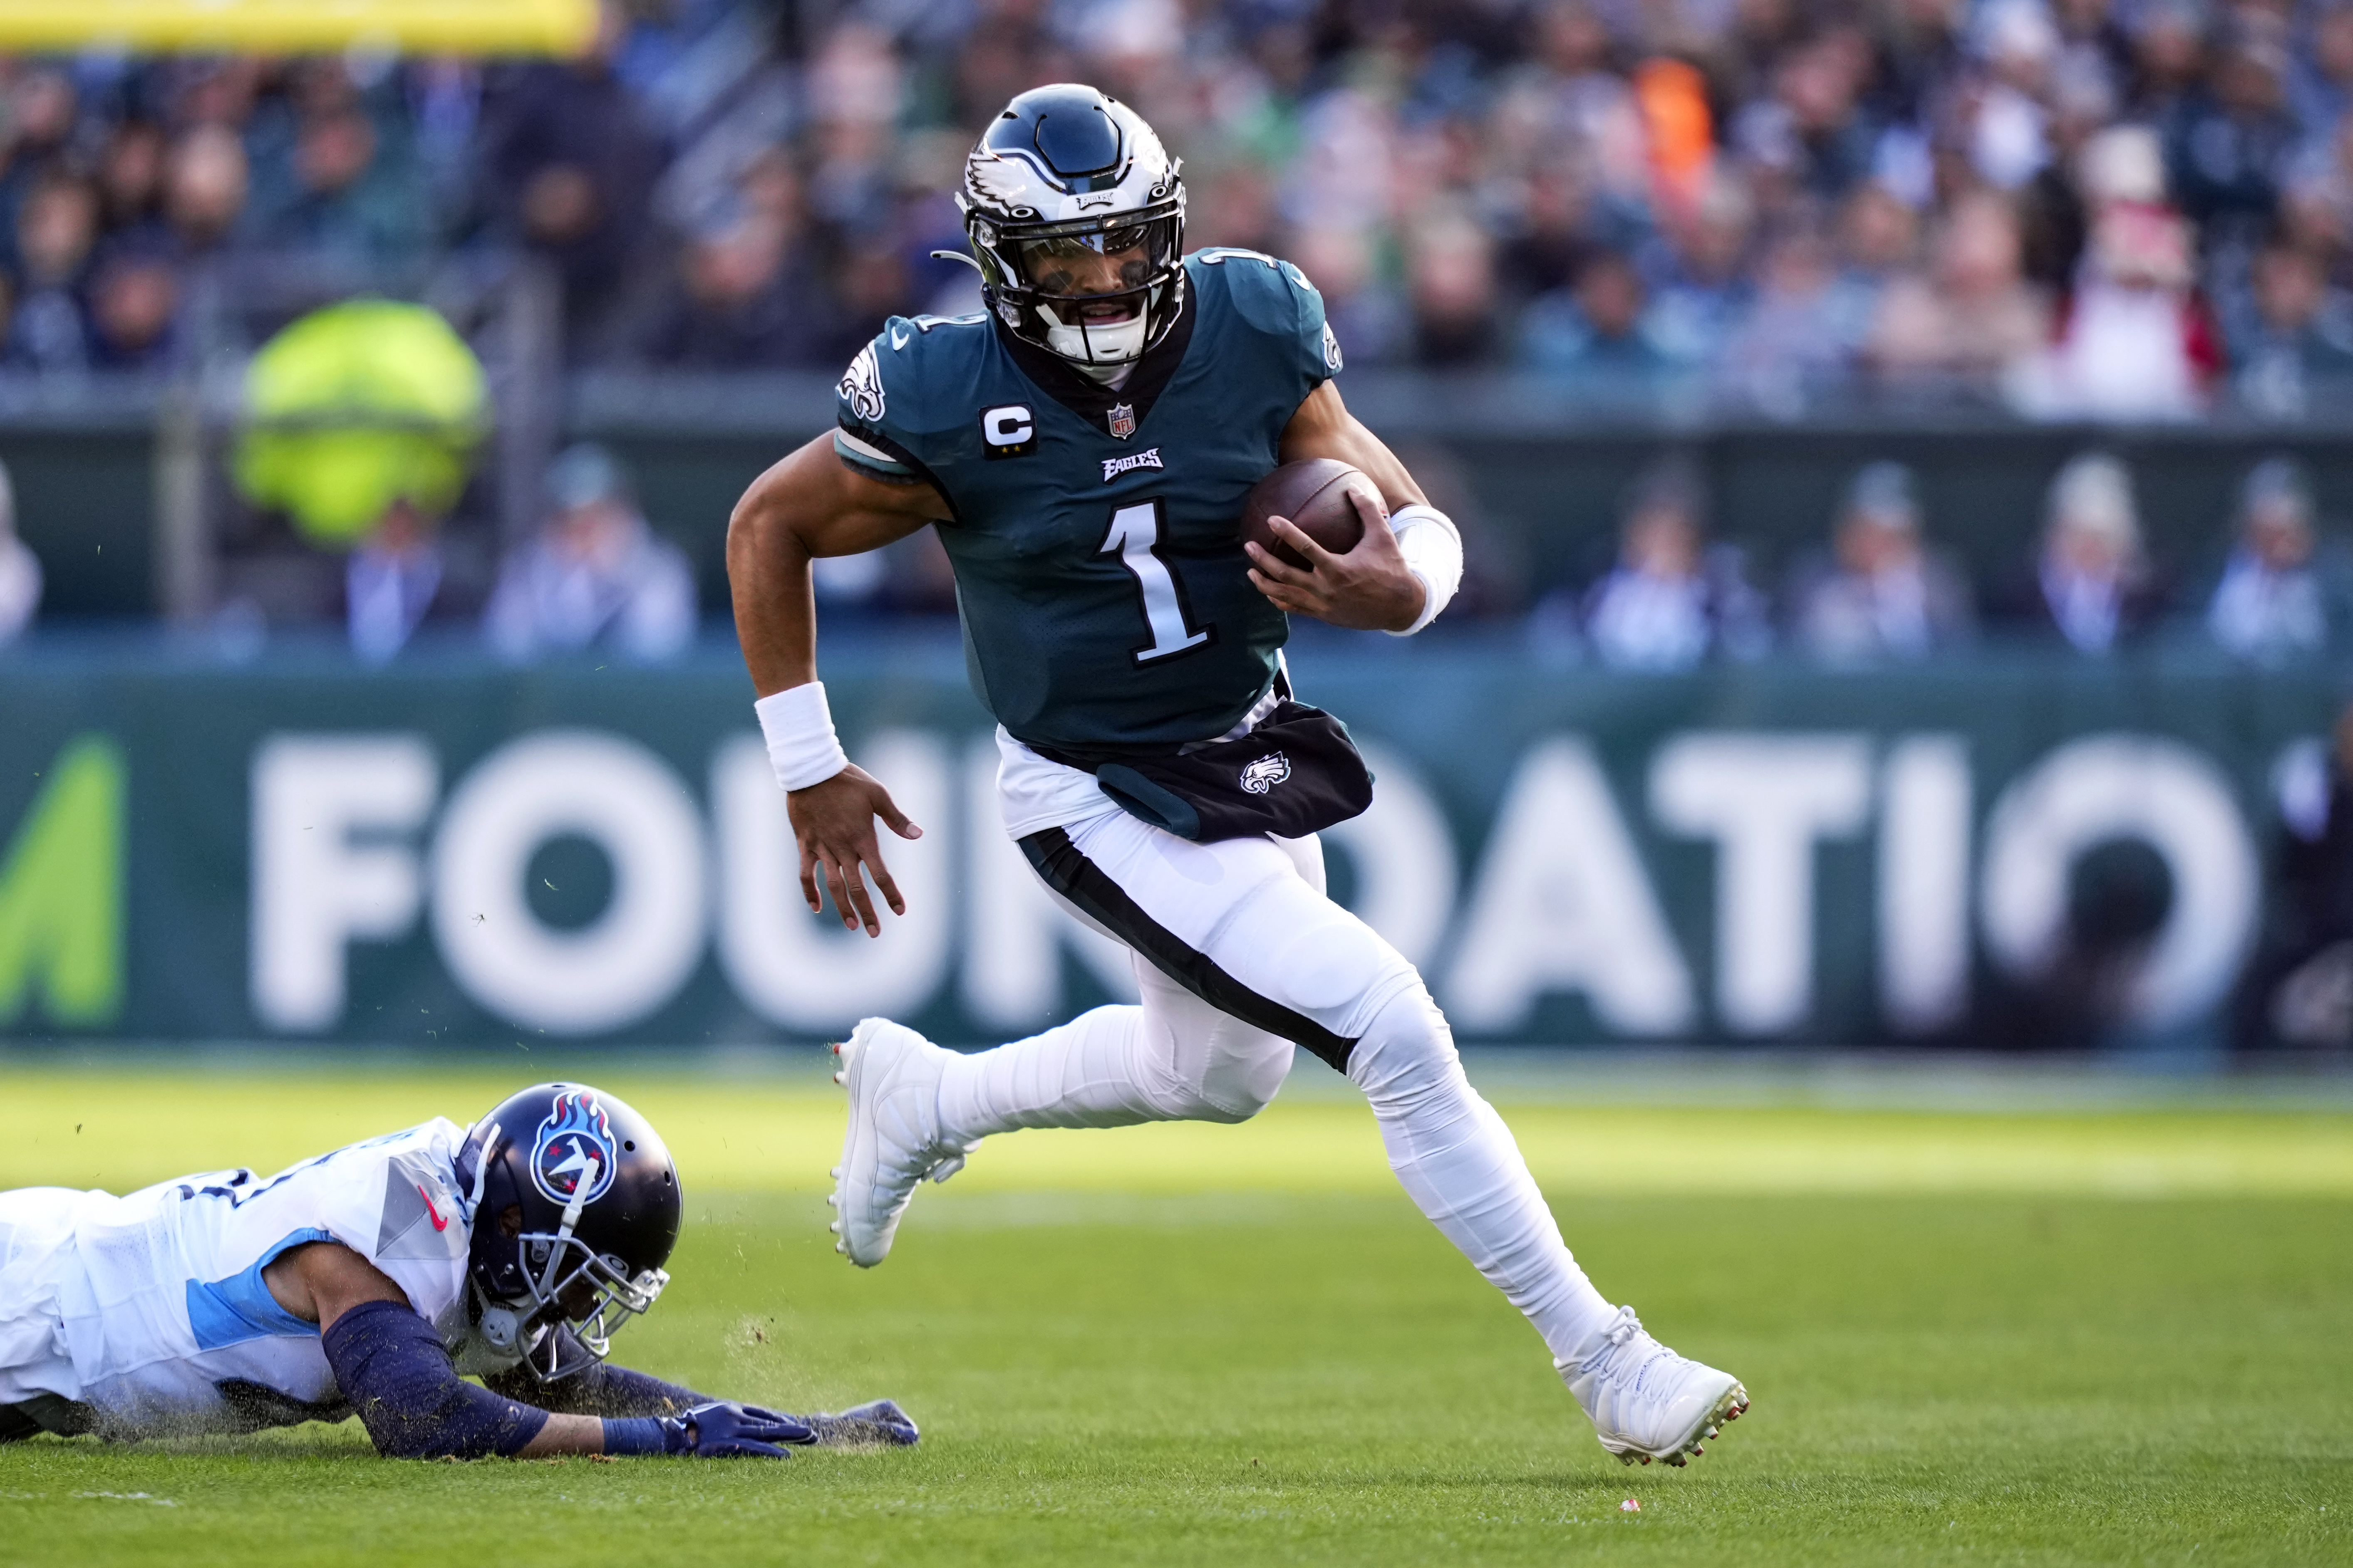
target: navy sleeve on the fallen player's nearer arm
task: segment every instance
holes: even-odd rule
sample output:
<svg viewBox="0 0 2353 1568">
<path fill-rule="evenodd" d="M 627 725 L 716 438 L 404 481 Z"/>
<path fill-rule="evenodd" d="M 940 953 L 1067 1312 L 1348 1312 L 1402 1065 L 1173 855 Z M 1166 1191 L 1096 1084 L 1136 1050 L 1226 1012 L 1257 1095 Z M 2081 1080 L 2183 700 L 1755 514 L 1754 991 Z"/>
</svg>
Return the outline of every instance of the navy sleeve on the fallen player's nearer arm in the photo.
<svg viewBox="0 0 2353 1568">
<path fill-rule="evenodd" d="M 402 1302 L 362 1302 L 322 1342 L 344 1399 L 388 1458 L 513 1458 L 548 1425 L 546 1410 L 459 1378 L 433 1324 Z"/>
</svg>

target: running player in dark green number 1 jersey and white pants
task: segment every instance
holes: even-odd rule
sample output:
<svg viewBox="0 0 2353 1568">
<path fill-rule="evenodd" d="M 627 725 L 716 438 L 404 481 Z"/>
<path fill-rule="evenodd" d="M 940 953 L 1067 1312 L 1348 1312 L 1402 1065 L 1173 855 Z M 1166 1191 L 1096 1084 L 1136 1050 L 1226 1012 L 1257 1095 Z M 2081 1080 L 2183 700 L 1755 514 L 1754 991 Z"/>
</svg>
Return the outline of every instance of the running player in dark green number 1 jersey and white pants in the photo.
<svg viewBox="0 0 2353 1568">
<path fill-rule="evenodd" d="M 993 1133 L 1245 1121 L 1297 1041 L 1367 1095 L 1398 1180 L 1537 1326 L 1602 1446 L 1682 1465 L 1746 1408 L 1739 1380 L 1586 1281 L 1412 964 L 1325 896 L 1313 832 L 1205 827 L 1320 788 L 1287 743 L 1245 769 L 1249 797 L 1209 766 L 1278 726 L 1329 726 L 1289 701 L 1287 614 L 1419 632 L 1461 578 L 1454 524 L 1341 404 L 1299 268 L 1184 254 L 1179 165 L 1127 106 L 1075 85 L 1016 96 L 960 205 L 986 313 L 887 322 L 842 376 L 840 428 L 753 482 L 727 538 L 736 630 L 802 896 L 819 910 L 821 877 L 878 936 L 873 893 L 904 900 L 873 820 L 920 827 L 835 741 L 809 562 L 936 527 L 998 719 L 1005 830 L 1064 907 L 1134 950 L 1144 1001 L 974 1056 L 864 1020 L 838 1046 L 838 1251 L 882 1262 L 915 1185 Z M 1278 520 L 1306 571 L 1235 531 L 1245 491 L 1304 458 L 1355 465 L 1388 510 L 1346 555 Z M 1362 783 L 1339 750 L 1332 795 L 1348 766 Z"/>
</svg>

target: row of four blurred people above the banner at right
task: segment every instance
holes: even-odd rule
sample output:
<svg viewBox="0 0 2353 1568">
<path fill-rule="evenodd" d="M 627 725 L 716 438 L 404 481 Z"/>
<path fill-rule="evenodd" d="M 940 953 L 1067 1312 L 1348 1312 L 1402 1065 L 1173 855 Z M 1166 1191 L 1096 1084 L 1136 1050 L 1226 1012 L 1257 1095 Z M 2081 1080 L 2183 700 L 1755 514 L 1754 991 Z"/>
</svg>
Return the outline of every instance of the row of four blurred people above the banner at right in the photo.
<svg viewBox="0 0 2353 1568">
<path fill-rule="evenodd" d="M 2129 468 L 2085 451 L 2049 482 L 2033 555 L 1979 590 L 1927 536 L 1913 473 L 1880 461 L 1849 482 L 1824 548 L 1800 552 L 1781 590 L 1765 592 L 1739 545 L 1711 543 L 1699 475 L 1668 458 L 1631 487 L 1617 564 L 1539 599 L 1529 637 L 1553 661 L 1654 672 L 1774 646 L 1831 665 L 1904 663 L 1981 630 L 2089 656 L 2167 635 L 2252 665 L 2353 644 L 2353 559 L 2320 527 L 2301 463 L 2257 463 L 2219 543 L 2202 578 L 2167 581 Z"/>
</svg>

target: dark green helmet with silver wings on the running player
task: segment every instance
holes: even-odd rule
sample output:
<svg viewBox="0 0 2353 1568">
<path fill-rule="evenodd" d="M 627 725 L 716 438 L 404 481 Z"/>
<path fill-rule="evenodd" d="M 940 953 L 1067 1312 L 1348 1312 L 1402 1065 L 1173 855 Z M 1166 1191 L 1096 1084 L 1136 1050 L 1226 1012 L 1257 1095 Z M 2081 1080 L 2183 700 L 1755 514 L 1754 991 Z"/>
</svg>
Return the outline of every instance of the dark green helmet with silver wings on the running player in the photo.
<svg viewBox="0 0 2353 1568">
<path fill-rule="evenodd" d="M 1144 118 L 1094 87 L 1024 92 L 965 160 L 955 205 L 998 320 L 1078 367 L 1141 360 L 1184 310 L 1184 179 Z M 1129 256 L 1115 287 L 1073 268 Z M 1085 287 L 1085 284 L 1080 284 Z"/>
</svg>

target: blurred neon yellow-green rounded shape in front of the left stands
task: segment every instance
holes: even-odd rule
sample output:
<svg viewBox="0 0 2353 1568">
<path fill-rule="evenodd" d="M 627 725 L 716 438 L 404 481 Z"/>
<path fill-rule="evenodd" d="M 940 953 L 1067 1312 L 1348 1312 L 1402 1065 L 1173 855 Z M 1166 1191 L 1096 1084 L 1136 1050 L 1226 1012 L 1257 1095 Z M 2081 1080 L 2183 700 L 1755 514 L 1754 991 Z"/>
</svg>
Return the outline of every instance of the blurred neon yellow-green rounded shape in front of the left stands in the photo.
<svg viewBox="0 0 2353 1568">
<path fill-rule="evenodd" d="M 235 477 L 311 543 L 348 548 L 395 498 L 445 512 L 489 425 L 482 362 L 435 310 L 355 299 L 296 320 L 245 371 Z"/>
</svg>

